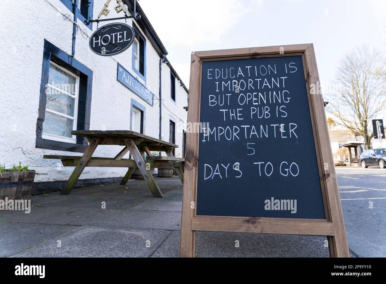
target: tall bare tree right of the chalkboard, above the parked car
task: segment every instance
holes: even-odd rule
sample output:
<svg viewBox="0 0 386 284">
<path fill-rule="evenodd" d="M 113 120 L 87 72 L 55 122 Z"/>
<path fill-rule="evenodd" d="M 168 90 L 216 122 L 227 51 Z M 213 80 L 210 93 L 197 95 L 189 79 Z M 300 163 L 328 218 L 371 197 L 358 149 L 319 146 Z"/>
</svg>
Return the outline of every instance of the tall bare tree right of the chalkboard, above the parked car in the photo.
<svg viewBox="0 0 386 284">
<path fill-rule="evenodd" d="M 382 54 L 366 46 L 340 60 L 335 93 L 328 95 L 338 125 L 364 137 L 365 149 L 373 137 L 371 119 L 386 105 L 385 66 Z"/>
</svg>

